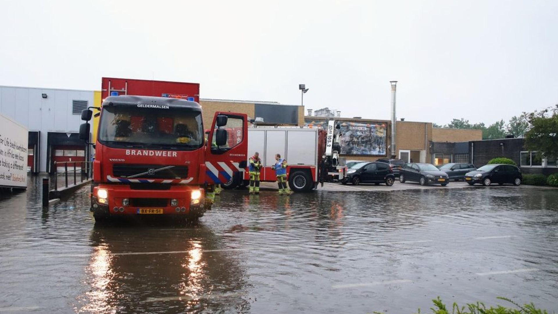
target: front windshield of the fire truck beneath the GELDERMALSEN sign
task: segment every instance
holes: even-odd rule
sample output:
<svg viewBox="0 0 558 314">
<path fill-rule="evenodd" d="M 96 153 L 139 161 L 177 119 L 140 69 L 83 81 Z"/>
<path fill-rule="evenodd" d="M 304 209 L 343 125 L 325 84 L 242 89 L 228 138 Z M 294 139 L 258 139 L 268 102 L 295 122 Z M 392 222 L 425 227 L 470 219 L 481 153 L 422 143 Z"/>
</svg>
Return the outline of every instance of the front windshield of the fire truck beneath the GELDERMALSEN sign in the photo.
<svg viewBox="0 0 558 314">
<path fill-rule="evenodd" d="M 201 112 L 132 106 L 103 107 L 98 140 L 115 147 L 194 150 L 204 142 Z"/>
</svg>

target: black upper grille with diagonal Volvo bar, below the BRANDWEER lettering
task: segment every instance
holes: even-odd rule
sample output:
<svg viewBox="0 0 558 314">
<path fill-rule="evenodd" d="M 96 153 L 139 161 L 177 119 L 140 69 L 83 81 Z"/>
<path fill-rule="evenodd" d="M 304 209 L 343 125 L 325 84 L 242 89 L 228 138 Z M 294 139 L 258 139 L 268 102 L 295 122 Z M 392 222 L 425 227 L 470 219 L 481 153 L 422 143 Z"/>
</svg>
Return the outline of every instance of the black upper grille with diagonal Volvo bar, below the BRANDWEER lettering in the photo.
<svg viewBox="0 0 558 314">
<path fill-rule="evenodd" d="M 114 164 L 114 177 L 131 179 L 182 179 L 188 177 L 187 166 Z"/>
</svg>

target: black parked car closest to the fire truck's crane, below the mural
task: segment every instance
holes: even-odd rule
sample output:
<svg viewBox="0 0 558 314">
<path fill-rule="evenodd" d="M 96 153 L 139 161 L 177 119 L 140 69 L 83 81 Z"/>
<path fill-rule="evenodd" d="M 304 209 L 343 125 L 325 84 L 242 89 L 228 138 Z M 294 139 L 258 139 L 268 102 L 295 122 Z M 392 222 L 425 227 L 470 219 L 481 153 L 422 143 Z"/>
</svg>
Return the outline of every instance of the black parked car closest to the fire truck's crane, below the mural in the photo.
<svg viewBox="0 0 558 314">
<path fill-rule="evenodd" d="M 386 183 L 389 187 L 395 182 L 395 175 L 389 165 L 385 163 L 378 163 L 377 161 L 364 161 L 353 165 L 347 171 L 347 177 L 342 181 L 343 184 L 353 183 L 359 185 L 360 183 Z"/>
</svg>

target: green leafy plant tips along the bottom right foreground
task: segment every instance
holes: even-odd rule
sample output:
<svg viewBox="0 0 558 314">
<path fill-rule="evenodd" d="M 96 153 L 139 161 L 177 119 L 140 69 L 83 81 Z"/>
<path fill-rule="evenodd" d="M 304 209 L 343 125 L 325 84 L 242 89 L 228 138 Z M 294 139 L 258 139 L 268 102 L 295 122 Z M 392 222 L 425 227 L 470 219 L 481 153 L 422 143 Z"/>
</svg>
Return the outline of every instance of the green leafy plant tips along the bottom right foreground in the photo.
<svg viewBox="0 0 558 314">
<path fill-rule="evenodd" d="M 548 314 L 546 310 L 536 308 L 533 303 L 521 306 L 508 298 L 498 297 L 498 299 L 512 303 L 515 307 L 509 308 L 499 305 L 497 307 L 491 306 L 487 308 L 482 302 L 468 303 L 466 306 L 459 307 L 457 303 L 454 302 L 450 312 L 444 302 L 442 302 L 442 299 L 437 297 L 432 300 L 432 302 L 434 302 L 434 307 L 431 307 L 430 310 L 432 310 L 432 313 L 434 314 Z M 383 314 L 381 312 L 374 313 Z M 417 313 L 421 314 L 420 308 Z"/>
</svg>

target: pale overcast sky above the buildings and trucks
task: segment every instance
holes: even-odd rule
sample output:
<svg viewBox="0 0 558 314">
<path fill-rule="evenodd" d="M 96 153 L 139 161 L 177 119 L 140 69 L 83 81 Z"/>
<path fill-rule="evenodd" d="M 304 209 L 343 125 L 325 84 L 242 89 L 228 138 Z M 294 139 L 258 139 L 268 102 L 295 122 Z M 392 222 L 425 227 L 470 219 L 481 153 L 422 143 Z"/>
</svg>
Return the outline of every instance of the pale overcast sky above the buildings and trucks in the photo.
<svg viewBox="0 0 558 314">
<path fill-rule="evenodd" d="M 0 85 L 200 83 L 202 98 L 492 123 L 558 103 L 558 1 L 0 0 Z"/>
</svg>

